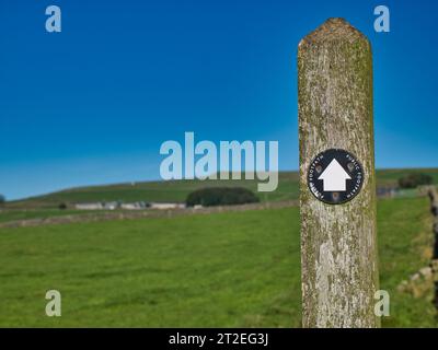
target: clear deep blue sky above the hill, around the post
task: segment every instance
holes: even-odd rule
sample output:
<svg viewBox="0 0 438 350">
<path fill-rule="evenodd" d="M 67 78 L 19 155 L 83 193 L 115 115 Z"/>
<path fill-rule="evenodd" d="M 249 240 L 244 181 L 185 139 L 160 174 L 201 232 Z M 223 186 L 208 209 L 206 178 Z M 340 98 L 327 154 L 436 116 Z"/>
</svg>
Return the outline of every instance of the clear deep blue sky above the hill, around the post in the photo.
<svg viewBox="0 0 438 350">
<path fill-rule="evenodd" d="M 278 140 L 296 170 L 297 45 L 331 16 L 372 44 L 377 166 L 438 166 L 437 3 L 1 0 L 0 194 L 159 178 L 161 143 L 185 131 Z"/>
</svg>

